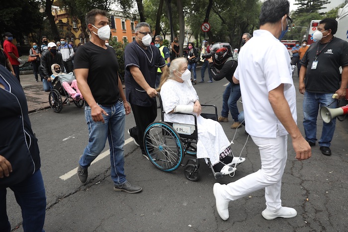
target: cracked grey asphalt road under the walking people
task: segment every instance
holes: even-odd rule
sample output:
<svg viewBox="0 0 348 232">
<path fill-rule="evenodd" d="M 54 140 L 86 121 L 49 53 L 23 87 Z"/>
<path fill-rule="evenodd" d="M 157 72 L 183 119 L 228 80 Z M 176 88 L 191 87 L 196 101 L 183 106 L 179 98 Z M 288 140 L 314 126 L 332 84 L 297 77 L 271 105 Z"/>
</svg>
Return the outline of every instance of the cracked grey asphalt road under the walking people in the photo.
<svg viewBox="0 0 348 232">
<path fill-rule="evenodd" d="M 207 77 L 206 74 L 206 80 Z M 294 82 L 298 86 L 296 75 Z M 226 80 L 221 80 L 195 85 L 200 102 L 215 104 L 220 114 L 226 83 Z M 303 133 L 300 93 L 297 93 L 297 102 L 298 124 Z M 239 102 L 238 107 L 240 111 L 243 108 Z M 158 112 L 157 119 L 160 120 Z M 331 156 L 322 155 L 317 145 L 313 147 L 309 160 L 297 161 L 289 139 L 281 198 L 284 206 L 297 210 L 297 217 L 263 219 L 261 212 L 265 200 L 264 191 L 260 190 L 230 202 L 230 219 L 226 222 L 216 212 L 213 184 L 216 181 L 229 183 L 261 168 L 258 149 L 251 138 L 247 141 L 244 127 L 237 132 L 230 129 L 231 115 L 230 122 L 222 123 L 222 126 L 229 139 L 235 137 L 232 146 L 235 156 L 247 143 L 242 152 L 247 160 L 237 167 L 234 177 L 218 180 L 201 161 L 201 178 L 197 182 L 184 177 L 183 167 L 167 173 L 144 158 L 140 149 L 129 142 L 131 139 L 126 131 L 134 125 L 134 118 L 132 114 L 128 115 L 125 172 L 128 181 L 143 187 L 138 194 L 113 191 L 108 143 L 104 149 L 105 157 L 88 168 L 87 183 L 79 182 L 74 169 L 88 141 L 83 109 L 72 104 L 64 106 L 58 114 L 51 109 L 32 113 L 30 120 L 41 152 L 41 171 L 47 196 L 44 229 L 47 232 L 348 231 L 348 120 L 337 121 Z M 318 125 L 319 137 L 320 117 Z M 20 208 L 10 190 L 7 192 L 7 212 L 12 229 L 23 231 Z"/>
</svg>

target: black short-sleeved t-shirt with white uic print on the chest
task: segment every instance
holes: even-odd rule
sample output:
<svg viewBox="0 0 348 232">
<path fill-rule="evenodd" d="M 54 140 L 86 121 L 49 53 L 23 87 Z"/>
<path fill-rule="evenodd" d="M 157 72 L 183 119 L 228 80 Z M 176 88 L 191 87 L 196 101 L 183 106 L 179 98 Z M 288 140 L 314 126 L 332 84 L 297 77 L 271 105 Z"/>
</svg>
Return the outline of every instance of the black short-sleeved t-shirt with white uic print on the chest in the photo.
<svg viewBox="0 0 348 232">
<path fill-rule="evenodd" d="M 326 47 L 324 48 L 324 46 Z M 317 50 L 322 50 L 318 56 Z M 318 57 L 317 69 L 312 70 L 311 67 L 316 57 Z M 348 65 L 348 43 L 336 37 L 328 44 L 313 43 L 303 56 L 300 64 L 307 67 L 306 91 L 334 93 L 340 88 L 341 75 L 339 68 Z"/>
</svg>

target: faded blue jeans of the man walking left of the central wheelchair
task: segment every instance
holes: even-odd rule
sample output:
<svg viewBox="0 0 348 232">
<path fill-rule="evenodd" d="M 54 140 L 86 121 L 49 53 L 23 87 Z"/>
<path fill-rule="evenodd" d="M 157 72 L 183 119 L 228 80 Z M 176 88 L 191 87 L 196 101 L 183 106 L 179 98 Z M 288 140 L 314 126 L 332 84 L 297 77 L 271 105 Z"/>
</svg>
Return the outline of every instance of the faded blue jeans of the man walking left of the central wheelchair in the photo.
<svg viewBox="0 0 348 232">
<path fill-rule="evenodd" d="M 117 101 L 112 106 L 99 106 L 108 114 L 103 115 L 104 123 L 94 122 L 90 107 L 85 107 L 89 141 L 79 163 L 83 168 L 87 168 L 102 152 L 107 138 L 110 146 L 111 179 L 115 184 L 123 184 L 127 181 L 123 168 L 124 124 L 126 116 L 123 102 Z"/>
</svg>

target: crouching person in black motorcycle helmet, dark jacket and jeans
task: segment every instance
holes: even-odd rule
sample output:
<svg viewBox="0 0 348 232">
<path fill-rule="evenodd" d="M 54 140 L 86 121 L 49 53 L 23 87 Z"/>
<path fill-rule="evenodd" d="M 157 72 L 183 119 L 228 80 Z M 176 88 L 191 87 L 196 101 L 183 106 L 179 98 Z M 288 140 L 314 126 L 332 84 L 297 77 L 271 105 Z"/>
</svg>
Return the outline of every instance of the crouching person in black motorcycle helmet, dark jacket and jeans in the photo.
<svg viewBox="0 0 348 232">
<path fill-rule="evenodd" d="M 233 74 L 238 65 L 237 54 L 234 53 L 229 43 L 215 43 L 210 47 L 209 72 L 211 72 L 214 80 L 221 80 L 224 77 L 230 81 L 222 95 L 222 111 L 218 118 L 219 122 L 228 122 L 228 111 L 230 110 L 234 123 L 231 129 L 237 129 L 242 126 L 238 121 L 237 101 L 241 97 L 241 89 L 239 84 L 232 81 Z"/>
</svg>

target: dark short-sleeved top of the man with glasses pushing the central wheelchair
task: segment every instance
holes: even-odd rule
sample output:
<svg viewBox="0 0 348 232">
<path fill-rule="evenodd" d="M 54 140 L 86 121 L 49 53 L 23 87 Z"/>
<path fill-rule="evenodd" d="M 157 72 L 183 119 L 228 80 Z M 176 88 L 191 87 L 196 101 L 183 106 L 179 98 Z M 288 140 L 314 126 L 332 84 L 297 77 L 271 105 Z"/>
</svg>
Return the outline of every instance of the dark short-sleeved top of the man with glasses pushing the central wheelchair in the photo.
<svg viewBox="0 0 348 232">
<path fill-rule="evenodd" d="M 124 66 L 127 100 L 138 106 L 151 106 L 156 98 L 150 98 L 140 85 L 134 80 L 130 73 L 130 67 L 135 66 L 140 69 L 145 80 L 151 87 L 155 87 L 157 68 L 164 67 L 165 60 L 161 56 L 160 50 L 154 45 L 143 49 L 136 41 L 129 43 L 124 51 Z"/>
</svg>

